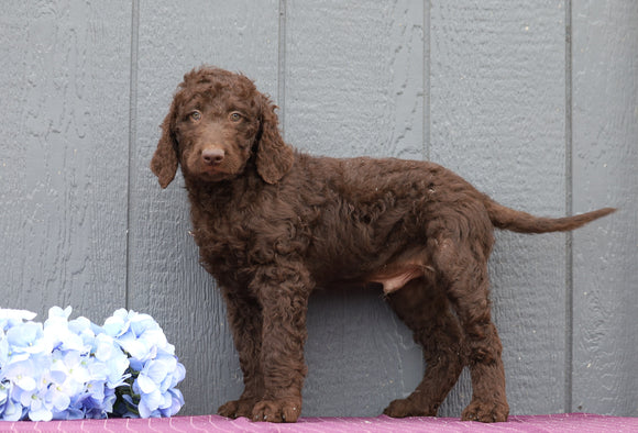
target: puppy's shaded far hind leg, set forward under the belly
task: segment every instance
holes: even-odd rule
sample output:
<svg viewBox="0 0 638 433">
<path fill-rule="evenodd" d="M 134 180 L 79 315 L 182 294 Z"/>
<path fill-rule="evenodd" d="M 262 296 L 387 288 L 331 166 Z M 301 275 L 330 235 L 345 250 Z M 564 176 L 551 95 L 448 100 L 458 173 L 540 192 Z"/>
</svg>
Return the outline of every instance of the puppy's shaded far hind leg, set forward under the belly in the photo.
<svg viewBox="0 0 638 433">
<path fill-rule="evenodd" d="M 405 399 L 384 410 L 388 417 L 435 417 L 463 369 L 461 325 L 446 293 L 425 278 L 414 279 L 389 293 L 388 303 L 414 332 L 426 360 L 424 379 Z"/>
</svg>

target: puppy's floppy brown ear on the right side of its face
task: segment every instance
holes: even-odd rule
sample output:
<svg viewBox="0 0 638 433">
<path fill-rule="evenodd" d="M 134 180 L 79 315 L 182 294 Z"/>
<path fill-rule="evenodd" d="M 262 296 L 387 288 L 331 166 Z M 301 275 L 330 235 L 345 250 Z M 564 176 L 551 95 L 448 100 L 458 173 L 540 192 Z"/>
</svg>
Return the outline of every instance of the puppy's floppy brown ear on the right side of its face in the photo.
<svg viewBox="0 0 638 433">
<path fill-rule="evenodd" d="M 257 135 L 257 173 L 267 184 L 276 184 L 293 167 L 295 154 L 279 134 L 279 121 L 275 113 L 277 107 L 263 95 L 260 99 L 262 115 Z"/>
</svg>

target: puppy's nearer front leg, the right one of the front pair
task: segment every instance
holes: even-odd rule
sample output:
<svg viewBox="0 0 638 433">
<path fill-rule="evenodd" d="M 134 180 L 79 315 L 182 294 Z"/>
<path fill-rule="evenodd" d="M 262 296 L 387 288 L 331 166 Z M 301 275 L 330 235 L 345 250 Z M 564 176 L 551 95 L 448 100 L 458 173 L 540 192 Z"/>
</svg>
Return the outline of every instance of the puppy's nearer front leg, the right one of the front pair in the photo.
<svg viewBox="0 0 638 433">
<path fill-rule="evenodd" d="M 312 284 L 304 266 L 261 269 L 252 286 L 262 306 L 264 398 L 253 409 L 254 421 L 295 422 L 301 413 L 306 312 Z"/>
</svg>

